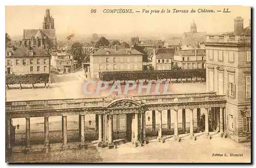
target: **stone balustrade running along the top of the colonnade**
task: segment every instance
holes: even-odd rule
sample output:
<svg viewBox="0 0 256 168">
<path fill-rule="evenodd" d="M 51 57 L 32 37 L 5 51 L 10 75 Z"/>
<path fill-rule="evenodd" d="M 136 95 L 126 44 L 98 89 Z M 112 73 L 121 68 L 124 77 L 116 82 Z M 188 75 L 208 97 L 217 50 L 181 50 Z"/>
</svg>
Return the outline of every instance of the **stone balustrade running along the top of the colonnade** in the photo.
<svg viewBox="0 0 256 168">
<path fill-rule="evenodd" d="M 224 95 L 217 95 L 216 92 L 187 93 L 187 94 L 161 94 L 161 95 L 138 95 L 131 96 L 130 99 L 141 101 L 144 105 L 166 104 L 166 103 L 186 103 L 200 101 L 221 101 L 225 100 Z M 25 110 L 51 110 L 51 109 L 74 109 L 105 107 L 106 103 L 102 98 L 83 99 L 56 99 L 56 100 L 36 100 L 36 101 L 16 101 L 6 102 L 6 111 Z"/>
</svg>

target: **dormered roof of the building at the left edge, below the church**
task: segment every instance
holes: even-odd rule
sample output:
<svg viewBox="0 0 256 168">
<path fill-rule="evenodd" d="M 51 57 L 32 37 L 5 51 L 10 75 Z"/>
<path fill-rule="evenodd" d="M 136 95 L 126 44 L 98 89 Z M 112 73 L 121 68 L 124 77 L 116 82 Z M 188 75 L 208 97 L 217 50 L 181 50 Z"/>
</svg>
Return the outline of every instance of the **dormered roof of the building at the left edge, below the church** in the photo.
<svg viewBox="0 0 256 168">
<path fill-rule="evenodd" d="M 29 51 L 33 51 L 33 55 L 29 55 Z M 8 52 L 12 52 L 12 55 L 8 56 Z M 14 50 L 8 47 L 6 57 L 50 57 L 50 55 L 41 47 L 30 47 L 30 50 L 27 47 L 14 47 Z"/>
</svg>

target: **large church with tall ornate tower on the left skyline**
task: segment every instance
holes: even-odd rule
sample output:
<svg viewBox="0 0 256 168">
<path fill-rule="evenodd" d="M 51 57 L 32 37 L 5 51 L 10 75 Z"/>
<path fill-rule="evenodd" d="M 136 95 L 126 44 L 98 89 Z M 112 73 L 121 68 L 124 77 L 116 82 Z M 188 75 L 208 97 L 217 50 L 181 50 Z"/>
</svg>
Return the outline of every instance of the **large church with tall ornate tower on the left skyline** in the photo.
<svg viewBox="0 0 256 168">
<path fill-rule="evenodd" d="M 22 46 L 27 47 L 36 46 L 42 47 L 42 49 L 56 48 L 56 37 L 54 28 L 54 18 L 50 15 L 50 10 L 46 10 L 44 22 L 42 23 L 42 29 L 24 29 Z"/>
</svg>

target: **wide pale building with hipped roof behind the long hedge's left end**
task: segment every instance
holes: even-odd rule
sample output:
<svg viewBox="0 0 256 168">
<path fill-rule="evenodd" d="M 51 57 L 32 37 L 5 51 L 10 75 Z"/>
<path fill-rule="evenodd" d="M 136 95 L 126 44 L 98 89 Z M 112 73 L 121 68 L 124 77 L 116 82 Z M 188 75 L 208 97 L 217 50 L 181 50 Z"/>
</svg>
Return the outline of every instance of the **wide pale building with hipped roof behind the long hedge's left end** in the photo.
<svg viewBox="0 0 256 168">
<path fill-rule="evenodd" d="M 99 78 L 102 71 L 142 70 L 142 53 L 135 49 L 99 49 L 90 55 L 90 76 Z"/>
</svg>

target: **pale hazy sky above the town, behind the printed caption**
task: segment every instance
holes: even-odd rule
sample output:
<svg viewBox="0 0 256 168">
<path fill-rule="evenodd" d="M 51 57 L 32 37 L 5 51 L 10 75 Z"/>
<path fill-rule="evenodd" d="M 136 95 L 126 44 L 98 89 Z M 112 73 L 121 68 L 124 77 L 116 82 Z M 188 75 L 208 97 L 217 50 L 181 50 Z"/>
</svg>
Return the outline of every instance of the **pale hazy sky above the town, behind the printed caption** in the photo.
<svg viewBox="0 0 256 168">
<path fill-rule="evenodd" d="M 103 13 L 103 9 L 120 8 L 133 9 L 134 13 Z M 217 12 L 224 8 L 231 12 Z M 219 33 L 233 31 L 236 16 L 244 18 L 244 27 L 250 19 L 250 8 L 242 6 L 7 6 L 6 33 L 22 36 L 23 29 L 42 28 L 46 9 L 54 18 L 56 34 L 182 34 L 190 31 L 193 19 L 198 32 Z M 91 9 L 96 9 L 96 13 L 91 13 Z M 148 14 L 142 13 L 143 9 L 169 9 L 171 13 Z M 173 9 L 214 9 L 215 13 L 173 13 Z"/>
</svg>

